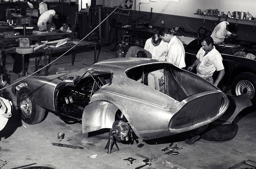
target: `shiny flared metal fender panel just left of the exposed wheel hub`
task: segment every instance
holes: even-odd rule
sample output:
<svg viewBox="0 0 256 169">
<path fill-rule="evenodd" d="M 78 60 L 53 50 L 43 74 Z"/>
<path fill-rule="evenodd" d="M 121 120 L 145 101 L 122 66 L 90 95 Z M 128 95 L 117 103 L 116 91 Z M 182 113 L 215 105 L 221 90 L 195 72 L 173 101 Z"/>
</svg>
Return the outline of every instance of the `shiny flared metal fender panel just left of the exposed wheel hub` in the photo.
<svg viewBox="0 0 256 169">
<path fill-rule="evenodd" d="M 83 133 L 112 128 L 118 107 L 110 102 L 95 101 L 84 108 L 82 116 Z M 122 111 L 122 110 L 121 110 Z"/>
</svg>

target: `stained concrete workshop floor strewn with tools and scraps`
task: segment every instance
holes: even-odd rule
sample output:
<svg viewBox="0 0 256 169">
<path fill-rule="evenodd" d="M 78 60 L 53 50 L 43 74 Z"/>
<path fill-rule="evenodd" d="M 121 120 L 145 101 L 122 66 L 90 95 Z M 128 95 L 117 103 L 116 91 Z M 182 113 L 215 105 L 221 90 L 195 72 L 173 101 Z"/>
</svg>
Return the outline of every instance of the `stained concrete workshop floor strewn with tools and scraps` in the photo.
<svg viewBox="0 0 256 169">
<path fill-rule="evenodd" d="M 100 51 L 99 60 L 114 58 L 115 53 Z M 66 67 L 67 70 L 88 67 L 93 64 L 93 51 L 87 51 L 76 55 L 74 66 L 71 66 L 69 56 L 59 59 L 53 67 Z M 12 70 L 12 58 L 7 58 L 6 69 Z M 42 64 L 44 63 L 41 61 Z M 29 68 L 33 67 L 34 62 L 29 63 Z M 28 69 L 30 71 L 30 69 Z M 228 91 L 228 87 L 221 87 Z M 12 95 L 11 88 L 4 90 L 6 98 L 12 100 L 13 113 L 6 127 L 0 132 L 0 158 L 9 161 L 3 169 L 13 168 L 21 165 L 37 163 L 37 165 L 48 166 L 55 169 L 127 169 L 135 168 L 145 163 L 144 158 L 136 156 L 136 153 L 147 156 L 157 157 L 158 160 L 152 163 L 151 167 L 156 169 L 168 169 L 162 161 L 168 160 L 187 169 L 227 169 L 243 160 L 251 159 L 256 161 L 255 152 L 255 128 L 256 111 L 248 109 L 242 111 L 235 119 L 239 129 L 235 138 L 224 142 L 212 142 L 200 139 L 192 145 L 184 143 L 184 139 L 178 136 L 142 142 L 144 146 L 138 148 L 138 144 L 124 144 L 117 142 L 120 151 L 107 154 L 105 145 L 108 142 L 108 130 L 101 130 L 98 133 L 90 134 L 86 137 L 82 134 L 80 123 L 66 124 L 58 116 L 49 112 L 43 122 L 36 125 L 24 123 L 17 112 L 16 98 Z M 62 141 L 57 139 L 59 132 L 65 133 Z M 67 141 L 71 139 L 70 141 Z M 69 149 L 52 146 L 51 143 L 63 143 L 75 146 L 88 147 L 81 149 Z M 92 142 L 92 143 L 86 143 Z M 165 155 L 161 151 L 170 142 L 175 142 L 179 150 L 179 155 Z M 80 143 L 80 144 L 79 144 Z M 94 145 L 90 145 L 94 144 Z M 81 146 L 83 147 L 83 146 Z M 237 152 L 237 151 L 239 152 Z M 113 148 L 114 151 L 114 148 Z M 97 155 L 96 158 L 92 158 Z M 133 164 L 123 160 L 128 157 L 136 158 Z M 0 161 L 0 165 L 2 162 Z M 143 168 L 147 168 L 143 167 Z M 241 168 L 241 167 L 240 167 Z M 239 169 L 240 169 L 239 168 Z"/>
</svg>

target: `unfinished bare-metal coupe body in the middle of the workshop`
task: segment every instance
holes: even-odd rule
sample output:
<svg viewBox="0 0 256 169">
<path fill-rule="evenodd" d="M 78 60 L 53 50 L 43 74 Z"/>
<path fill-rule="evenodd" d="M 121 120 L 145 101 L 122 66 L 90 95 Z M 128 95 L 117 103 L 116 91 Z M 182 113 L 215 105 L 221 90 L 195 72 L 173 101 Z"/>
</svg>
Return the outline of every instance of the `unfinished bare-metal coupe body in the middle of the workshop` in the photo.
<svg viewBox="0 0 256 169">
<path fill-rule="evenodd" d="M 164 84 L 158 91 L 149 88 L 145 79 L 147 73 L 160 69 L 164 70 Z M 220 118 L 229 104 L 227 95 L 209 82 L 154 59 L 108 59 L 88 69 L 91 77 L 78 78 L 77 75 L 84 72 L 82 69 L 67 74 L 32 76 L 14 86 L 12 92 L 19 96 L 19 90 L 29 88 L 33 104 L 69 118 L 82 109 L 81 116 L 73 119 L 82 120 L 84 133 L 112 128 L 117 112 L 121 112 L 132 131 L 144 140 L 207 125 Z M 103 75 L 99 75 L 101 73 Z M 60 76 L 74 77 L 74 80 L 65 82 L 57 78 Z M 85 104 L 80 103 L 83 99 L 87 99 Z M 78 103 L 80 105 L 74 106 Z"/>
</svg>

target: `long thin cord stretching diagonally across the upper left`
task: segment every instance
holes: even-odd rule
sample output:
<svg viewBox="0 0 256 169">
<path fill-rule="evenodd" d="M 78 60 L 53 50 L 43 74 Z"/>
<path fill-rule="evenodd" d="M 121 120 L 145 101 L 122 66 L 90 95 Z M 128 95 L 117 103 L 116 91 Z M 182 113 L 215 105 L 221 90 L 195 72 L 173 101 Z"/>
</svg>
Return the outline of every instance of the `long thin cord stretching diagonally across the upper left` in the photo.
<svg viewBox="0 0 256 169">
<path fill-rule="evenodd" d="M 117 9 L 119 6 L 121 6 L 121 4 L 124 3 L 124 1 L 125 1 L 125 0 L 123 0 L 123 1 L 116 7 L 116 9 Z M 68 51 L 66 51 L 65 53 L 63 53 L 60 57 L 56 58 L 55 60 L 53 60 L 53 61 L 52 61 L 51 63 L 49 63 L 48 65 L 42 67 L 41 69 L 39 69 L 38 71 L 36 71 L 36 72 L 34 72 L 34 73 L 28 75 L 27 77 L 24 77 L 23 79 L 21 79 L 21 80 L 15 82 L 15 83 L 13 83 L 13 84 L 11 84 L 11 85 L 9 85 L 9 86 L 6 86 L 6 87 L 0 89 L 0 91 L 1 91 L 1 90 L 4 90 L 5 88 L 8 88 L 8 87 L 11 87 L 11 86 L 15 85 L 15 84 L 19 83 L 20 81 L 23 81 L 23 80 L 27 79 L 28 77 L 30 77 L 30 76 L 36 74 L 37 72 L 43 70 L 45 67 L 51 65 L 53 62 L 55 62 L 56 60 L 58 60 L 59 58 L 61 58 L 63 55 L 65 55 L 65 54 L 68 53 L 70 50 L 72 50 L 73 48 L 75 48 L 76 45 L 78 45 L 80 42 L 82 42 L 82 41 L 83 41 L 88 35 L 90 35 L 95 29 L 97 29 L 113 12 L 116 11 L 116 9 L 114 9 L 114 11 L 112 11 L 103 21 L 101 21 L 100 24 L 99 24 L 97 27 L 95 27 L 89 34 L 87 34 L 82 40 L 80 40 L 78 43 L 76 43 L 76 44 L 75 44 L 72 48 L 70 48 Z"/>
</svg>

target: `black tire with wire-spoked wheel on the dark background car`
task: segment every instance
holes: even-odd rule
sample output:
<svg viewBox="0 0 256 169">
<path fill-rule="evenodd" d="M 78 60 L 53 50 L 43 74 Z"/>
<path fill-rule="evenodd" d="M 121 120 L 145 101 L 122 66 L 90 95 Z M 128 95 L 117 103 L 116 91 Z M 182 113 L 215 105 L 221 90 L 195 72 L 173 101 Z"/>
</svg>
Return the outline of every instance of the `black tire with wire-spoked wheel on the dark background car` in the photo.
<svg viewBox="0 0 256 169">
<path fill-rule="evenodd" d="M 252 103 L 256 104 L 256 74 L 245 72 L 238 74 L 231 84 L 231 92 L 233 95 L 245 94 L 251 98 Z"/>
</svg>

